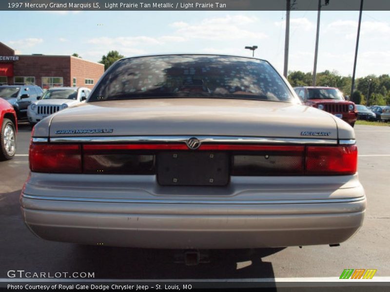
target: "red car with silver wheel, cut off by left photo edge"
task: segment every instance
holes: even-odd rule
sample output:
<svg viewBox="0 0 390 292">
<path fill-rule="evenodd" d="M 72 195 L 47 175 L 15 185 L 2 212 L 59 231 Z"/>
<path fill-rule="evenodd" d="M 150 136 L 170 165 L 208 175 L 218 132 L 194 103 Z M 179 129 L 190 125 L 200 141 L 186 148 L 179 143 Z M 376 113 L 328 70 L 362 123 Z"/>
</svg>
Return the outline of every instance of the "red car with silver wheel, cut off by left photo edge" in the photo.
<svg viewBox="0 0 390 292">
<path fill-rule="evenodd" d="M 17 121 L 15 110 L 0 98 L 0 161 L 9 160 L 15 155 Z"/>
</svg>

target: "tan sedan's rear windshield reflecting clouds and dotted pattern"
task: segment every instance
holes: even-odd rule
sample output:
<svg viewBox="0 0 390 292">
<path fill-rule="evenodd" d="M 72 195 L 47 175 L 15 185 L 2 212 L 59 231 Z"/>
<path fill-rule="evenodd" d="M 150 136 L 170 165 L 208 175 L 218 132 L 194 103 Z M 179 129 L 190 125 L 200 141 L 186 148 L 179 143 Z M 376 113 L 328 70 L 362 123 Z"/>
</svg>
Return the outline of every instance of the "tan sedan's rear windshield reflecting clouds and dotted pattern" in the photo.
<svg viewBox="0 0 390 292">
<path fill-rule="evenodd" d="M 286 83 L 266 61 L 215 55 L 120 60 L 88 102 L 166 97 L 243 98 L 292 102 Z"/>
</svg>

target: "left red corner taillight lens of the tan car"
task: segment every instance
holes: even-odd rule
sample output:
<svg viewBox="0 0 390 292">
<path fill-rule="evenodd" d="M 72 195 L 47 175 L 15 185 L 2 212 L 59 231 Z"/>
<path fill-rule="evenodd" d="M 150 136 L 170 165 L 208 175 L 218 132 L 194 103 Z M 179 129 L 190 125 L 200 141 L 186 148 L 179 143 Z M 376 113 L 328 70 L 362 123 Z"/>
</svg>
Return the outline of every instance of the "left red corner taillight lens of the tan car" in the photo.
<svg viewBox="0 0 390 292">
<path fill-rule="evenodd" d="M 31 171 L 81 173 L 79 145 L 32 143 L 29 160 Z"/>
</svg>

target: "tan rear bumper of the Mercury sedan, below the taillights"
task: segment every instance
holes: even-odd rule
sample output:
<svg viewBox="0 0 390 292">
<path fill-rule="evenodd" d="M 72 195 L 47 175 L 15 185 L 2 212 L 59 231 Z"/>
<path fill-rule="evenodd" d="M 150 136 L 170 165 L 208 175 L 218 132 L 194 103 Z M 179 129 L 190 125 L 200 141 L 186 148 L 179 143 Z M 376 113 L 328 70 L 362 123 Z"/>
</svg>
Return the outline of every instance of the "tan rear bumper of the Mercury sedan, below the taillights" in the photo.
<svg viewBox="0 0 390 292">
<path fill-rule="evenodd" d="M 39 237 L 107 246 L 219 249 L 331 244 L 350 238 L 363 222 L 366 197 L 355 176 L 326 199 L 284 200 L 276 198 L 276 191 L 249 186 L 252 189 L 230 198 L 145 194 L 145 199 L 130 199 L 119 198 L 117 190 L 111 190 L 111 196 L 28 195 L 32 186 L 27 183 L 20 201 L 26 224 Z M 301 186 L 300 194 L 304 192 Z M 292 193 L 299 197 L 294 189 L 284 194 Z M 274 199 L 264 199 L 266 195 Z"/>
</svg>

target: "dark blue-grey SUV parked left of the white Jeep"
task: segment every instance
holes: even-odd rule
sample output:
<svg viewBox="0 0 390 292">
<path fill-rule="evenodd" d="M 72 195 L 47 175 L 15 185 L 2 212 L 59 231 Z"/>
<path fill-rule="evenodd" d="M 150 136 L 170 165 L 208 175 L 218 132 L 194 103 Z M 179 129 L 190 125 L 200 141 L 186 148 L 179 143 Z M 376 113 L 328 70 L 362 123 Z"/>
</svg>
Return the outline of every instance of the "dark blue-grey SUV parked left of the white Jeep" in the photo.
<svg viewBox="0 0 390 292">
<path fill-rule="evenodd" d="M 27 107 L 43 95 L 37 85 L 1 85 L 0 97 L 8 101 L 16 111 L 18 120 L 27 119 Z"/>
</svg>

